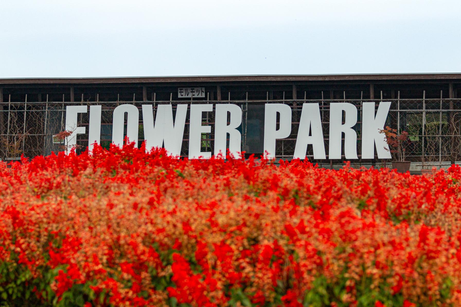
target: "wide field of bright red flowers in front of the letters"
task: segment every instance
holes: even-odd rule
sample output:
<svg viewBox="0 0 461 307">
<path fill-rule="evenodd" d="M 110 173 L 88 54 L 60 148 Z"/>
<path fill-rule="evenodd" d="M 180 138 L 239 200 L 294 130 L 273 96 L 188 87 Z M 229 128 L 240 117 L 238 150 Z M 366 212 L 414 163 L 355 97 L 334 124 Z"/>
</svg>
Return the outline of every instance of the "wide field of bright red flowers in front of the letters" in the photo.
<svg viewBox="0 0 461 307">
<path fill-rule="evenodd" d="M 460 179 L 130 146 L 1 162 L 0 299 L 461 306 Z"/>
</svg>

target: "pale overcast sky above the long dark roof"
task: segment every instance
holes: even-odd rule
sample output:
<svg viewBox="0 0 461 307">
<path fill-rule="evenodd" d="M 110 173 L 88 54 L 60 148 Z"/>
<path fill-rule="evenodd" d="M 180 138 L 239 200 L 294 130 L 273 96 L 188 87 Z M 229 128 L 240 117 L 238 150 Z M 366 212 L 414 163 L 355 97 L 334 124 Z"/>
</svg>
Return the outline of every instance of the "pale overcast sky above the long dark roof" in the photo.
<svg viewBox="0 0 461 307">
<path fill-rule="evenodd" d="M 1 1 L 0 78 L 461 72 L 459 0 Z"/>
</svg>

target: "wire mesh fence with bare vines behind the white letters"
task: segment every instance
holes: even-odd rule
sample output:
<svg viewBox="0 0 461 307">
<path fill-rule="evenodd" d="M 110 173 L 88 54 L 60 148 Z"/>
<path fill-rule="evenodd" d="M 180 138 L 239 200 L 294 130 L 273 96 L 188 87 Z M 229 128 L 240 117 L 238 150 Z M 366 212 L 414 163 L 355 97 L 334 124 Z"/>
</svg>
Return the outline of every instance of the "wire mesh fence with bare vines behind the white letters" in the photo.
<svg viewBox="0 0 461 307">
<path fill-rule="evenodd" d="M 154 112 L 160 104 L 171 104 L 175 117 L 177 104 L 220 104 L 231 103 L 242 108 L 242 125 L 239 130 L 242 134 L 242 151 L 246 155 L 263 154 L 264 140 L 264 107 L 266 103 L 283 103 L 292 109 L 292 130 L 286 139 L 276 142 L 276 157 L 290 159 L 294 155 L 296 137 L 301 108 L 304 103 L 318 103 L 324 133 L 325 152 L 328 158 L 329 144 L 329 116 L 330 104 L 346 102 L 354 104 L 358 110 L 357 123 L 354 129 L 357 133 L 357 153 L 359 163 L 376 162 L 376 160 L 361 160 L 361 125 L 363 102 L 375 102 L 376 108 L 380 100 L 260 100 L 260 101 L 142 101 L 142 102 L 42 102 L 42 103 L 15 103 L 0 104 L 0 157 L 17 159 L 24 156 L 48 155 L 52 151 L 63 150 L 63 140 L 54 137 L 65 129 L 65 107 L 67 105 L 87 105 L 87 113 L 78 114 L 78 125 L 86 127 L 86 134 L 78 134 L 77 145 L 88 145 L 89 106 L 102 106 L 101 113 L 101 145 L 109 147 L 112 142 L 112 113 L 120 104 L 134 104 L 139 110 L 139 140 L 144 141 L 142 121 L 142 104 L 152 104 Z M 408 132 L 408 140 L 404 142 L 405 154 L 409 161 L 423 163 L 441 163 L 460 160 L 461 153 L 461 99 L 386 99 L 391 101 L 386 126 L 396 129 L 399 133 Z M 213 108 L 214 110 L 214 108 Z M 203 133 L 201 141 L 202 152 L 213 152 L 214 148 L 214 112 L 203 112 L 202 124 L 211 126 L 211 133 Z M 126 125 L 125 125 L 126 129 Z M 384 137 L 384 136 L 383 136 Z M 189 148 L 189 109 L 186 116 L 186 125 L 183 135 L 182 156 L 187 156 Z M 312 147 L 309 145 L 306 152 L 312 160 Z M 329 160 L 317 162 L 330 162 Z M 342 162 L 342 161 L 337 161 Z"/>
</svg>

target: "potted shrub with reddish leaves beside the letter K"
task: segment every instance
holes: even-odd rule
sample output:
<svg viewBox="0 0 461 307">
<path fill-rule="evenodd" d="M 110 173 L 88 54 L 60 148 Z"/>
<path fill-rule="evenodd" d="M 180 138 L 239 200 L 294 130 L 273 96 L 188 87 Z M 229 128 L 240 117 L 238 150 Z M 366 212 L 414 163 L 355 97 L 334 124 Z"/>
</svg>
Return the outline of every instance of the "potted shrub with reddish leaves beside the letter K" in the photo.
<svg viewBox="0 0 461 307">
<path fill-rule="evenodd" d="M 408 172 L 411 163 L 405 160 L 405 145 L 408 143 L 408 132 L 402 131 L 402 133 L 398 134 L 396 129 L 386 126 L 385 129 L 380 130 L 379 133 L 384 134 L 390 152 L 394 153 L 392 168 L 396 168 L 399 173 Z"/>
</svg>

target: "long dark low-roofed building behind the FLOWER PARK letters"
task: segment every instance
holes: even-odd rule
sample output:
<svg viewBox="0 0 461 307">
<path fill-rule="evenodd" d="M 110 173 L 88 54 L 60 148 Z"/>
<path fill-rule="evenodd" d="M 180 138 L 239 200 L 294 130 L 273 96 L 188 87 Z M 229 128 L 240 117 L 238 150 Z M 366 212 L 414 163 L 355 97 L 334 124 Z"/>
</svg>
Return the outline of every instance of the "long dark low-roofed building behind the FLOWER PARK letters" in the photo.
<svg viewBox="0 0 461 307">
<path fill-rule="evenodd" d="M 263 153 L 264 106 L 283 103 L 292 108 L 292 133 L 277 140 L 276 156 L 290 159 L 296 143 L 301 106 L 319 103 L 325 144 L 328 146 L 329 107 L 347 102 L 359 110 L 357 146 L 361 136 L 363 102 L 390 101 L 386 125 L 409 133 L 407 158 L 418 162 L 460 160 L 461 74 L 369 74 L 369 75 L 229 75 L 127 78 L 37 78 L 0 79 L 0 140 L 2 159 L 47 155 L 62 150 L 62 141 L 53 136 L 65 129 L 67 105 L 102 106 L 101 145 L 112 136 L 112 110 L 119 104 L 221 104 L 242 108 L 242 150 L 246 155 Z M 203 93 L 186 93 L 198 88 Z M 185 97 L 182 97 L 185 96 Z M 192 97 L 195 96 L 195 97 Z M 213 151 L 213 113 L 202 121 L 212 126 L 202 136 L 202 151 Z M 79 115 L 79 126 L 88 126 L 88 113 Z M 139 143 L 143 139 L 142 116 Z M 88 132 L 88 129 L 86 129 Z M 188 123 L 181 154 L 188 151 Z M 79 134 L 77 144 L 88 145 L 88 133 Z M 377 159 L 357 163 L 377 163 Z M 307 148 L 312 160 L 312 150 Z M 322 160 L 320 163 L 341 163 Z"/>
</svg>

